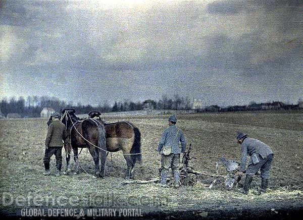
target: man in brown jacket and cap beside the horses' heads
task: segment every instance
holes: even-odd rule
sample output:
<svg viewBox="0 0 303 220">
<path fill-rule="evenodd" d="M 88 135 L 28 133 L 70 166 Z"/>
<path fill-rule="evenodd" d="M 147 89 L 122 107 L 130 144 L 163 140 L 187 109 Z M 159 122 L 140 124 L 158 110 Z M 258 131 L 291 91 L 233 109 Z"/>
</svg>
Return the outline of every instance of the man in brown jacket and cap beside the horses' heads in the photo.
<svg viewBox="0 0 303 220">
<path fill-rule="evenodd" d="M 53 154 L 56 156 L 57 170 L 55 176 L 60 176 L 62 166 L 62 140 L 65 141 L 68 135 L 65 125 L 59 120 L 60 117 L 61 115 L 58 113 L 52 114 L 52 122 L 49 124 L 47 130 L 45 138 L 45 154 L 43 158 L 45 167 L 45 172 L 43 173 L 44 176 L 51 175 L 51 172 L 49 171 L 49 161 Z"/>
</svg>

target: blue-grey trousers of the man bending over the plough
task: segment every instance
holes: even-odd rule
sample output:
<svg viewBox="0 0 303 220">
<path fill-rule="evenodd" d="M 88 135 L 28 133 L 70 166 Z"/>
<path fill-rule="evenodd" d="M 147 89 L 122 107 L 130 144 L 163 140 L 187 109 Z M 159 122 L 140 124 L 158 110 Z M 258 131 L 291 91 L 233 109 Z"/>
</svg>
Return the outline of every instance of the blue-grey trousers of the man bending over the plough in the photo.
<svg viewBox="0 0 303 220">
<path fill-rule="evenodd" d="M 260 169 L 261 178 L 268 179 L 273 157 L 274 157 L 274 154 L 269 154 L 265 159 L 263 159 L 259 155 L 260 162 L 257 164 L 253 164 L 253 163 L 248 164 L 246 174 L 250 175 L 250 176 L 255 175 Z"/>
</svg>

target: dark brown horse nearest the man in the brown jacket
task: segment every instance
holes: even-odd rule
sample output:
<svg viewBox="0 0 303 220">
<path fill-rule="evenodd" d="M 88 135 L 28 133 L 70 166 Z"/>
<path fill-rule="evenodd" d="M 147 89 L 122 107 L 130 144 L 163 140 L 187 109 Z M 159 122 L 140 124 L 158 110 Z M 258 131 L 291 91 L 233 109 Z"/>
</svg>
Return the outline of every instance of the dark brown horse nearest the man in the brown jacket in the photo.
<svg viewBox="0 0 303 220">
<path fill-rule="evenodd" d="M 69 134 L 64 144 L 67 161 L 67 167 L 64 173 L 68 174 L 69 172 L 71 148 L 73 148 L 76 163 L 75 173 L 78 174 L 80 172 L 78 148 L 87 147 L 95 163 L 94 175 L 96 177 L 104 177 L 105 163 L 103 161 L 105 161 L 106 158 L 106 132 L 104 125 L 91 119 L 79 121 L 79 118 L 74 115 L 74 109 L 64 109 L 61 121 L 66 125 Z"/>
</svg>

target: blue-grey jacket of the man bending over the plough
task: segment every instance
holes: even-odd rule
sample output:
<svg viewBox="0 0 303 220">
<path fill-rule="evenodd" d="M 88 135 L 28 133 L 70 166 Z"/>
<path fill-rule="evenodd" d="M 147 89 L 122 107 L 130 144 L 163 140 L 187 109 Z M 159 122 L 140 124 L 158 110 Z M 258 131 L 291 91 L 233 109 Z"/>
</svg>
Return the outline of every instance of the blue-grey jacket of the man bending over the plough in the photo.
<svg viewBox="0 0 303 220">
<path fill-rule="evenodd" d="M 246 164 L 246 157 L 247 154 L 250 156 L 250 162 L 254 163 L 254 156 L 258 156 L 259 154 L 262 159 L 265 159 L 269 154 L 273 154 L 273 151 L 271 150 L 270 146 L 263 143 L 262 141 L 259 141 L 255 138 L 245 138 L 243 140 L 243 143 L 241 144 L 241 164 L 240 164 L 240 171 L 245 171 L 245 164 Z M 258 159 L 257 159 L 258 160 Z M 257 161 L 258 162 L 258 161 Z"/>
</svg>

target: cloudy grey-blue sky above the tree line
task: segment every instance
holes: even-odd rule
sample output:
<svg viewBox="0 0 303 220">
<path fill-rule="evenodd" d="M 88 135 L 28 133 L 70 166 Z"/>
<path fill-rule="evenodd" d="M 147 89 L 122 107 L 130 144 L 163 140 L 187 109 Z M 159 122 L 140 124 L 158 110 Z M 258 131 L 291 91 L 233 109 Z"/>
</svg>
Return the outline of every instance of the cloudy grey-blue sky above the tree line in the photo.
<svg viewBox="0 0 303 220">
<path fill-rule="evenodd" d="M 0 98 L 303 99 L 303 1 L 0 4 Z"/>
</svg>

